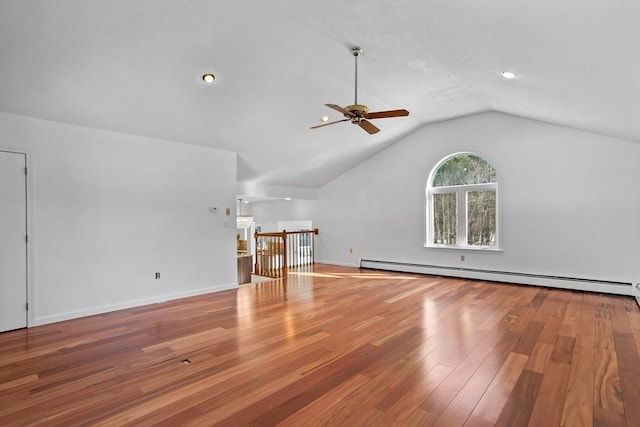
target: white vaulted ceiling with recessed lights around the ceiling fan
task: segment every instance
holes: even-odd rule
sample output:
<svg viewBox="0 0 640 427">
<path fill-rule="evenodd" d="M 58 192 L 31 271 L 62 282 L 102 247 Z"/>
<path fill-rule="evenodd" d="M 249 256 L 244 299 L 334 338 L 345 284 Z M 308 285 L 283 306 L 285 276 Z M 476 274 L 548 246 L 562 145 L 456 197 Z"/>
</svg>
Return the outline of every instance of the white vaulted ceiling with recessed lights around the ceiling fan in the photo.
<svg viewBox="0 0 640 427">
<path fill-rule="evenodd" d="M 310 130 L 353 103 L 353 45 L 358 101 L 410 116 Z M 482 111 L 640 141 L 640 1 L 2 0 L 0 109 L 232 150 L 241 183 L 306 188 Z"/>
</svg>

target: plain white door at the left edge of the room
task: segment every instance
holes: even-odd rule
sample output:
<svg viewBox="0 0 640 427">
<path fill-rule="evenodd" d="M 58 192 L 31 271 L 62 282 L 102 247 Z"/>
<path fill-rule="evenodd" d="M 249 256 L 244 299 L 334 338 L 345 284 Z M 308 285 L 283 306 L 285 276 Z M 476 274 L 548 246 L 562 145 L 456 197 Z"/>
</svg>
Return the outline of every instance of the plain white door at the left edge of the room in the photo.
<svg viewBox="0 0 640 427">
<path fill-rule="evenodd" d="M 0 151 L 0 332 L 27 326 L 26 160 Z"/>
</svg>

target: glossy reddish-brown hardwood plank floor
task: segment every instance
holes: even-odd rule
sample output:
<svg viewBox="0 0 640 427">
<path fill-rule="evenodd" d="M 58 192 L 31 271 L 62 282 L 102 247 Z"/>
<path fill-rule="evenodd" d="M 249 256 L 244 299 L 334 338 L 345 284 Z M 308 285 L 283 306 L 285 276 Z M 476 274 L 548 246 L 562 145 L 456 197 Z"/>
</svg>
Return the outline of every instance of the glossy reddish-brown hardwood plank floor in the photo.
<svg viewBox="0 0 640 427">
<path fill-rule="evenodd" d="M 0 334 L 0 425 L 640 425 L 631 297 L 316 265 Z"/>
</svg>

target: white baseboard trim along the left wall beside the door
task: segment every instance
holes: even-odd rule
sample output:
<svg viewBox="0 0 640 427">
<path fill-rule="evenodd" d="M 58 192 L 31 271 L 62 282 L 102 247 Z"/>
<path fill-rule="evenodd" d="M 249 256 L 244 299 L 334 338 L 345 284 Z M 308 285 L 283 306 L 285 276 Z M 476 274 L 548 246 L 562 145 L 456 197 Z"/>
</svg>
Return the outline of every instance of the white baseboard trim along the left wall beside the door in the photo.
<svg viewBox="0 0 640 427">
<path fill-rule="evenodd" d="M 46 325 L 48 323 L 62 322 L 64 320 L 77 319 L 79 317 L 93 316 L 95 314 L 109 313 L 111 311 L 124 310 L 126 308 L 140 307 L 148 304 L 157 304 L 157 303 L 171 301 L 175 299 L 193 297 L 196 295 L 203 295 L 203 294 L 208 294 L 212 292 L 220 292 L 220 291 L 226 291 L 229 289 L 237 289 L 237 288 L 238 288 L 237 283 L 225 283 L 222 285 L 212 286 L 209 288 L 194 289 L 186 292 L 175 292 L 175 293 L 166 294 L 166 295 L 157 295 L 149 298 L 125 301 L 117 304 L 107 304 L 107 305 L 101 305 L 97 307 L 86 308 L 82 310 L 67 311 L 65 313 L 53 314 L 50 316 L 41 316 L 41 317 L 36 316 L 34 324 L 29 326 L 31 327 L 31 326 Z"/>
</svg>

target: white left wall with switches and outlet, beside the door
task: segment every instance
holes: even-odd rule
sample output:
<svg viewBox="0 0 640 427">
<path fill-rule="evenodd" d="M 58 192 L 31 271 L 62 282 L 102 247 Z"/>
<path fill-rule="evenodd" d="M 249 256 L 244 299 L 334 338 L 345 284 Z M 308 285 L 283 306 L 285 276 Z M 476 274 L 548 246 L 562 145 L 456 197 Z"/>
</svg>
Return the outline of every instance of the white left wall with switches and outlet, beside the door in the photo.
<svg viewBox="0 0 640 427">
<path fill-rule="evenodd" d="M 237 286 L 235 153 L 4 113 L 0 148 L 30 162 L 31 325 Z"/>
</svg>

